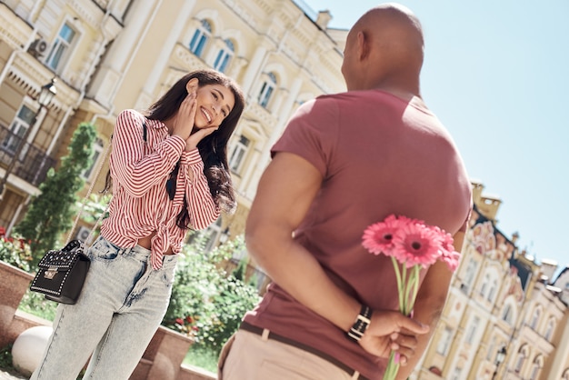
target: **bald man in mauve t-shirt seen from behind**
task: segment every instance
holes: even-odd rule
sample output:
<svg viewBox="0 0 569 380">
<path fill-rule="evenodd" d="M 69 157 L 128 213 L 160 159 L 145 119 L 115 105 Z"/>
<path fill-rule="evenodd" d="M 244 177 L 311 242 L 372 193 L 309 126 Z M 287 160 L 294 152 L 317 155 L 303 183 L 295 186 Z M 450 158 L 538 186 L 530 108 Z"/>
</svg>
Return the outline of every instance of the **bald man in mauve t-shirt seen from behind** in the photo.
<svg viewBox="0 0 569 380">
<path fill-rule="evenodd" d="M 405 379 L 424 353 L 452 273 L 424 270 L 407 318 L 390 258 L 362 246 L 364 229 L 392 214 L 463 243 L 471 187 L 421 99 L 423 47 L 407 8 L 368 11 L 346 40 L 348 92 L 302 105 L 273 147 L 245 240 L 274 283 L 225 346 L 224 380 L 381 379 L 392 349 Z"/>
</svg>

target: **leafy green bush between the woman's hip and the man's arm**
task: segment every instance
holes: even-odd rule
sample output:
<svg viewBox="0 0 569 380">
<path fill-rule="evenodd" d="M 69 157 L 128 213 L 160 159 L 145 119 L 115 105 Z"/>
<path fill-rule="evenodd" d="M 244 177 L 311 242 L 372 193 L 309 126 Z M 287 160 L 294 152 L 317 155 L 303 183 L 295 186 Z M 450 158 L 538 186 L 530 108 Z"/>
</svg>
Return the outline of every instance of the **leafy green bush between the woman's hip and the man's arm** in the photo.
<svg viewBox="0 0 569 380">
<path fill-rule="evenodd" d="M 186 246 L 179 258 L 163 325 L 193 336 L 196 349 L 217 355 L 260 297 L 254 286 L 227 275 L 222 267 L 233 252 L 245 248 L 243 236 L 205 252 L 204 237 L 196 234 L 194 244 Z"/>
</svg>

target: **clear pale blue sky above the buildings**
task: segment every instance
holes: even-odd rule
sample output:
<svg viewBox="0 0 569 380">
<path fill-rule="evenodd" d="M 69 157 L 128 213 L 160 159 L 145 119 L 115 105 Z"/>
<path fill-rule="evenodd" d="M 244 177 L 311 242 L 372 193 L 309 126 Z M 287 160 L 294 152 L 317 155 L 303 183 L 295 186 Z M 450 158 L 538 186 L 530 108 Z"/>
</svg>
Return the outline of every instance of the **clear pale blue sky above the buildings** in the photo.
<svg viewBox="0 0 569 380">
<path fill-rule="evenodd" d="M 304 0 L 349 29 L 370 0 Z M 569 265 L 569 1 L 408 0 L 425 36 L 422 95 L 518 247 Z"/>
</svg>

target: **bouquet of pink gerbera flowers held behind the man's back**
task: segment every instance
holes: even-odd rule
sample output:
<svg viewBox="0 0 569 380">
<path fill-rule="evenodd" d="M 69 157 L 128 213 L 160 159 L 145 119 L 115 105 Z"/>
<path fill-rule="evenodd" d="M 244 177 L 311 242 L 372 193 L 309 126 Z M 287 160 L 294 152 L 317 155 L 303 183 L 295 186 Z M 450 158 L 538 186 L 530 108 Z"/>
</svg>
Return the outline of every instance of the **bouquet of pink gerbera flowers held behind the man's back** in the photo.
<svg viewBox="0 0 569 380">
<path fill-rule="evenodd" d="M 368 226 L 363 245 L 374 255 L 391 257 L 399 295 L 399 311 L 412 315 L 419 290 L 421 268 L 442 260 L 451 271 L 458 266 L 460 255 L 454 252 L 453 236 L 441 228 L 405 216 L 389 215 L 383 222 Z M 399 371 L 399 355 L 391 352 L 384 380 L 392 380 Z"/>
</svg>

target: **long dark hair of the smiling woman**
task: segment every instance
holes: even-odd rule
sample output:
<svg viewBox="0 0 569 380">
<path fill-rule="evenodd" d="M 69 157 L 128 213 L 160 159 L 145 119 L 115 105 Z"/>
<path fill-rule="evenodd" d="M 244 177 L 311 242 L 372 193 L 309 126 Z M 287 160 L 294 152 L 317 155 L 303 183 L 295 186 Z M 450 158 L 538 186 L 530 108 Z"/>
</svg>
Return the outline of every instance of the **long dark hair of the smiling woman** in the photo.
<svg viewBox="0 0 569 380">
<path fill-rule="evenodd" d="M 151 120 L 164 122 L 173 117 L 188 95 L 186 85 L 192 78 L 197 78 L 198 86 L 224 85 L 235 96 L 235 105 L 229 115 L 219 125 L 213 134 L 205 136 L 197 145 L 204 161 L 204 175 L 207 178 L 209 191 L 222 212 L 233 213 L 236 207 L 235 191 L 229 175 L 227 164 L 227 144 L 235 131 L 239 117 L 245 108 L 245 96 L 235 82 L 222 73 L 214 70 L 198 70 L 189 73 L 178 80 L 165 95 L 162 95 L 154 105 L 146 111 L 145 116 Z M 187 200 L 184 197 L 184 208 L 176 217 L 176 225 L 188 229 L 191 225 L 190 215 L 187 211 Z"/>
</svg>

